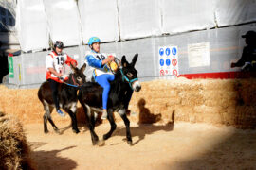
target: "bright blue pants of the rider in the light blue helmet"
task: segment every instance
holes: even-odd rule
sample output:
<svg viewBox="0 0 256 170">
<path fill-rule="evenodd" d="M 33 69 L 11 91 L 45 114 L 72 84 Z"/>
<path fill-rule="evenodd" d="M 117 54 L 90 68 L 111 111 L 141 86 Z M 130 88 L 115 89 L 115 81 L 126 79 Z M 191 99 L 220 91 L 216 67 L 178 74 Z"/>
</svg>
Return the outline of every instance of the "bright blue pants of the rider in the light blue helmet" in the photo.
<svg viewBox="0 0 256 170">
<path fill-rule="evenodd" d="M 101 85 L 103 88 L 102 93 L 102 102 L 103 102 L 103 109 L 107 109 L 107 100 L 108 100 L 108 93 L 110 91 L 110 83 L 109 81 L 113 81 L 115 79 L 114 75 L 104 74 L 100 76 L 96 76 L 95 80 L 98 84 Z"/>
</svg>

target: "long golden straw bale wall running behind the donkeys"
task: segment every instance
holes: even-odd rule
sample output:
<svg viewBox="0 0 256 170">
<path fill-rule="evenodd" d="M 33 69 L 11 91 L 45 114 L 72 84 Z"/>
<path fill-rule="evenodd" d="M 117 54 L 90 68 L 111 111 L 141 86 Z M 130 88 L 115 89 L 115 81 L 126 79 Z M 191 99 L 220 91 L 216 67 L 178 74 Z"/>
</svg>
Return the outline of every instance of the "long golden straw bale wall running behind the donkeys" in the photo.
<svg viewBox="0 0 256 170">
<path fill-rule="evenodd" d="M 256 125 L 254 119 L 256 106 L 256 79 L 186 79 L 154 80 L 141 82 L 142 89 L 134 93 L 129 109 L 139 115 L 138 103 L 145 101 L 145 108 L 152 114 L 161 114 L 162 119 L 170 119 L 173 111 L 175 119 L 189 122 L 212 124 Z M 42 123 L 44 109 L 37 98 L 37 89 L 10 90 L 0 86 L 0 110 L 13 114 L 24 123 Z M 251 115 L 245 118 L 243 112 Z M 253 113 L 254 112 L 254 113 Z M 119 116 L 118 116 L 119 117 Z M 136 118 L 135 118 L 136 117 Z M 52 113 L 54 121 L 70 122 Z M 78 121 L 85 116 L 78 104 Z M 119 118 L 117 118 L 119 120 Z M 247 123 L 251 122 L 251 123 Z M 247 126 L 248 127 L 248 126 Z M 251 126 L 250 126 L 251 127 Z"/>
</svg>

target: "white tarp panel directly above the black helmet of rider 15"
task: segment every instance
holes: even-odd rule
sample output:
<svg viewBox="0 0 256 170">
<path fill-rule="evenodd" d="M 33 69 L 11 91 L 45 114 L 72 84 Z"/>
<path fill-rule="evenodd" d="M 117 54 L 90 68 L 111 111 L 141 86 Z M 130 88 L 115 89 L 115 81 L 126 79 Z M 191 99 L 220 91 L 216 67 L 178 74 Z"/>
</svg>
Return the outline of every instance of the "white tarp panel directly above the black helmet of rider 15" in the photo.
<svg viewBox="0 0 256 170">
<path fill-rule="evenodd" d="M 44 4 L 52 41 L 62 41 L 64 46 L 82 44 L 81 23 L 76 1 L 44 0 Z"/>
</svg>

